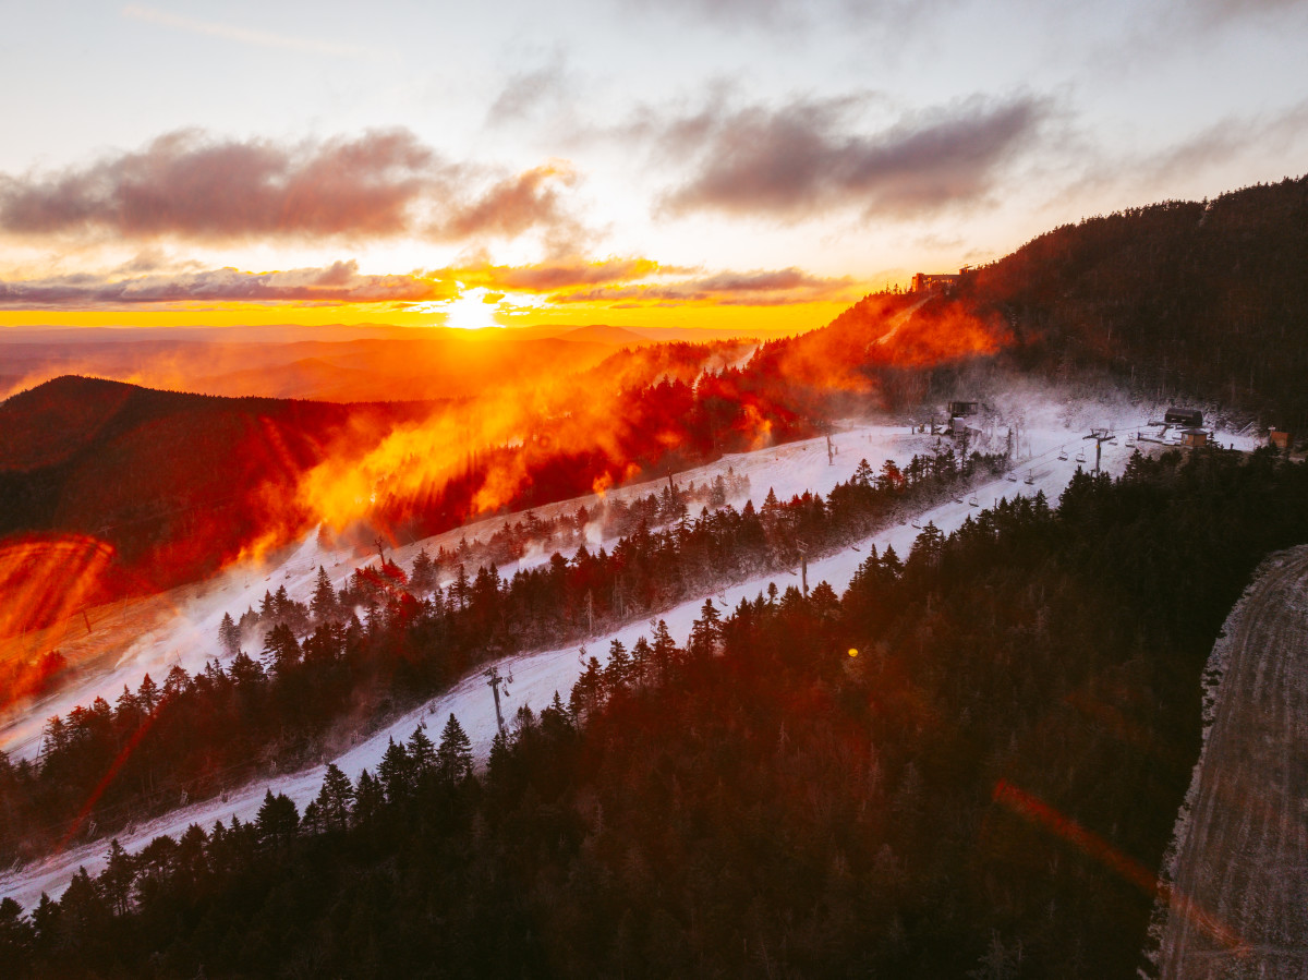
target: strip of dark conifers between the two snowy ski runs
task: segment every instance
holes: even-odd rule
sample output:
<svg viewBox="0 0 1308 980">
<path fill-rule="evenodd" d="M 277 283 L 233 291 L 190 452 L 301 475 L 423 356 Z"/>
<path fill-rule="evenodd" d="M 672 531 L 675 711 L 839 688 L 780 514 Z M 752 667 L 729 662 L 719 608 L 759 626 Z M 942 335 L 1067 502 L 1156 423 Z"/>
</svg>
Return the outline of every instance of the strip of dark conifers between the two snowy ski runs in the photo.
<svg viewBox="0 0 1308 980">
<path fill-rule="evenodd" d="M 903 471 L 887 462 L 879 475 L 865 462 L 829 499 L 769 492 L 759 510 L 747 502 L 739 512 L 726 505 L 721 480 L 706 501 L 714 509 L 695 519 L 689 492 L 664 487 L 632 506 L 579 508 L 552 527 L 534 514 L 505 522 L 477 550 L 490 559 L 480 567 L 464 564 L 477 553 L 470 547 L 421 551 L 411 573 L 390 561 L 365 567 L 339 591 L 319 568 L 307 603 L 283 586 L 258 610 L 228 610 L 218 631 L 226 666 L 213 659 L 194 674 L 174 665 L 158 679 L 136 678 L 112 705 L 95 697 L 47 718 L 39 759 L 9 767 L 0 754 L 0 867 L 41 860 L 86 828 L 110 833 L 179 799 L 313 764 L 360 725 L 421 703 L 488 659 L 582 641 L 731 580 L 789 569 L 802 553 L 816 557 L 884 526 L 900 508 L 991 479 L 1002 462 L 976 454 L 960 466 L 944 453 L 914 457 Z M 586 548 L 591 522 L 611 548 Z M 570 560 L 555 552 L 501 577 L 493 552 L 521 555 L 557 525 L 572 538 Z M 7 682 L 13 675 L 0 670 L 0 690 Z"/>
</svg>

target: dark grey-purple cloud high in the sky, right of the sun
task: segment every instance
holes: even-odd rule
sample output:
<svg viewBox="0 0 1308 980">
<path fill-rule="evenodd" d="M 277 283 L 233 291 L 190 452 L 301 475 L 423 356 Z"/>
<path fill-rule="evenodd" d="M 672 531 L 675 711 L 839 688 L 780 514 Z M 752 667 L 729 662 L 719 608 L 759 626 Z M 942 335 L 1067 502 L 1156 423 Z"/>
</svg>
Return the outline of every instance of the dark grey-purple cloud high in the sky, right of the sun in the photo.
<svg viewBox="0 0 1308 980">
<path fill-rule="evenodd" d="M 655 133 L 662 152 L 689 157 L 693 173 L 664 196 L 664 209 L 798 220 L 832 208 L 908 217 L 974 204 L 1049 115 L 1046 102 L 1029 96 L 972 97 L 869 135 L 853 126 L 862 102 L 719 102 L 666 120 Z"/>
</svg>

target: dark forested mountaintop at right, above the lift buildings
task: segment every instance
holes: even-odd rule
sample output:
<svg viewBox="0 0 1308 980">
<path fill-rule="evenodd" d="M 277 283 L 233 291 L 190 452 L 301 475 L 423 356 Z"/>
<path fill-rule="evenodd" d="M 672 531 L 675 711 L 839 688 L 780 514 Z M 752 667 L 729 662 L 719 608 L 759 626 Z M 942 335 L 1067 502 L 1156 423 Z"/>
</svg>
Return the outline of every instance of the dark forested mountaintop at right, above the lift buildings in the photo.
<svg viewBox="0 0 1308 980">
<path fill-rule="evenodd" d="M 1057 228 L 964 276 L 1016 361 L 1110 370 L 1144 393 L 1308 429 L 1308 177 Z"/>
</svg>

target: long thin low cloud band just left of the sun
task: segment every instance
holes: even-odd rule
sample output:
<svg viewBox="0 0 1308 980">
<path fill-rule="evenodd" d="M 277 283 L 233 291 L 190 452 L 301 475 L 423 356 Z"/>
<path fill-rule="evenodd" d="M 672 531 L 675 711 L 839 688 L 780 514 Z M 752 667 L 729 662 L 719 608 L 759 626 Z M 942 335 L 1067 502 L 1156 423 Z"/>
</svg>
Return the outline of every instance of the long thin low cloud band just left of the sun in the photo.
<svg viewBox="0 0 1308 980">
<path fill-rule="evenodd" d="M 412 275 L 360 275 L 354 262 L 284 272 L 235 268 L 116 277 L 77 273 L 0 281 L 5 309 L 123 309 L 152 304 L 379 304 L 449 300 L 451 285 Z"/>
</svg>

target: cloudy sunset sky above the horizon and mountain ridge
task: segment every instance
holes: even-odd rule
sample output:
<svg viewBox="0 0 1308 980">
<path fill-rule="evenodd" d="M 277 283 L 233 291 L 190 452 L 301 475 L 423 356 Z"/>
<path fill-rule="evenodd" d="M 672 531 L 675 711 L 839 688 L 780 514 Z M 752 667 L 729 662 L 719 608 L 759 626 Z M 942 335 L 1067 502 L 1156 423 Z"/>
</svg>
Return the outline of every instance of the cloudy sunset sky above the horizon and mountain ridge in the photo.
<svg viewBox="0 0 1308 980">
<path fill-rule="evenodd" d="M 0 13 L 0 327 L 804 330 L 1308 170 L 1305 0 Z"/>
</svg>

